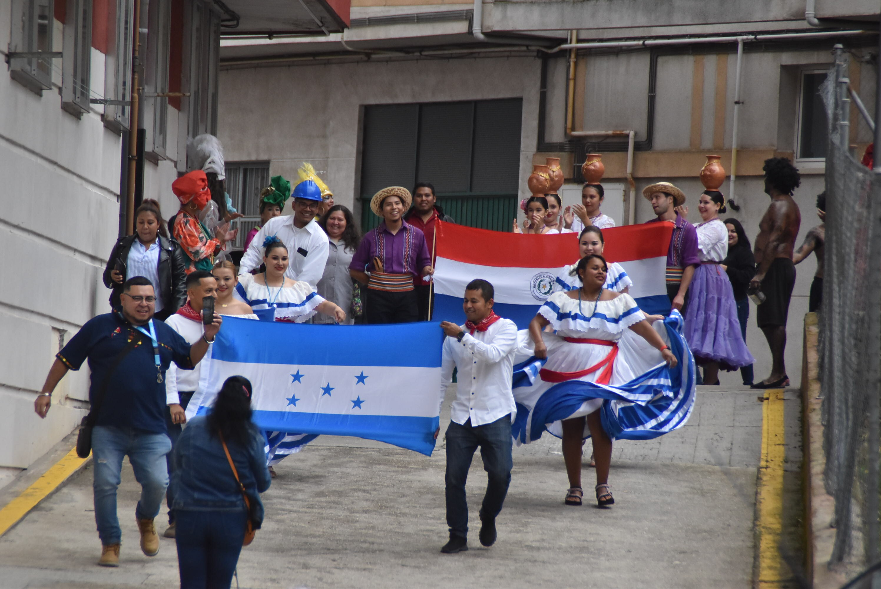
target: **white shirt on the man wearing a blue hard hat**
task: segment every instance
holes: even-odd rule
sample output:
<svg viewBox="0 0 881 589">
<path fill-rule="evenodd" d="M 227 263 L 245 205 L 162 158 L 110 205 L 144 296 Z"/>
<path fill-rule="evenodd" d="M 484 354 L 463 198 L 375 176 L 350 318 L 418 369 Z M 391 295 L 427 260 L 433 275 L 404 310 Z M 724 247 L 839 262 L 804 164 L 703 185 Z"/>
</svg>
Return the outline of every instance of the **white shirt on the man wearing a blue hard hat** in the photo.
<svg viewBox="0 0 881 589">
<path fill-rule="evenodd" d="M 251 272 L 263 264 L 263 241 L 270 235 L 277 235 L 287 247 L 290 265 L 287 266 L 285 276 L 308 282 L 313 288 L 318 287 L 318 281 L 322 280 L 324 274 L 324 265 L 328 261 L 328 235 L 315 220 L 309 221 L 301 229 L 295 227 L 292 215 L 266 221 L 251 240 L 248 251 L 241 257 L 239 273 Z"/>
</svg>

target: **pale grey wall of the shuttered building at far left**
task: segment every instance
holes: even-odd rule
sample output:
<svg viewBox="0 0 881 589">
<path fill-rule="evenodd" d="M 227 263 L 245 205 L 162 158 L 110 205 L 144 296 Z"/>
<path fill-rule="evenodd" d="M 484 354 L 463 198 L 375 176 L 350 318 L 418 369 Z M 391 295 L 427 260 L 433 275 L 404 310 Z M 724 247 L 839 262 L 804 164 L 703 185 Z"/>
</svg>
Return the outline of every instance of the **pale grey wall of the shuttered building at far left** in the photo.
<svg viewBox="0 0 881 589">
<path fill-rule="evenodd" d="M 4 49 L 10 15 L 11 0 L 0 0 Z M 58 21 L 55 32 L 60 50 Z M 61 60 L 54 63 L 60 71 Z M 92 63 L 93 95 L 101 96 L 104 56 L 94 48 Z M 105 128 L 100 108 L 81 118 L 63 111 L 60 74 L 54 82 L 40 96 L 0 71 L 0 467 L 29 466 L 85 414 L 77 400 L 88 395 L 85 367 L 64 377 L 45 421 L 33 413 L 34 393 L 61 332 L 67 341 L 109 309 L 100 275 L 117 236 L 122 139 Z M 169 118 L 176 125 L 176 111 Z M 144 198 L 170 193 L 174 177 L 173 161 L 148 163 Z"/>
</svg>

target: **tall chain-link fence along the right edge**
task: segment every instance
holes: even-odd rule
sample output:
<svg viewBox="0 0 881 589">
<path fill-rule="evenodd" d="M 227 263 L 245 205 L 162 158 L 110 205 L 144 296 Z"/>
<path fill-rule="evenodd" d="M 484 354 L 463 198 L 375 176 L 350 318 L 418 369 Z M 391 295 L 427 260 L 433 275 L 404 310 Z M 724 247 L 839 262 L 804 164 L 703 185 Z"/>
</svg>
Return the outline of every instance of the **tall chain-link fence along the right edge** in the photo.
<svg viewBox="0 0 881 589">
<path fill-rule="evenodd" d="M 881 177 L 850 153 L 848 84 L 848 54 L 836 46 L 820 88 L 829 123 L 820 380 L 835 499 L 829 564 L 854 577 L 878 559 Z"/>
</svg>

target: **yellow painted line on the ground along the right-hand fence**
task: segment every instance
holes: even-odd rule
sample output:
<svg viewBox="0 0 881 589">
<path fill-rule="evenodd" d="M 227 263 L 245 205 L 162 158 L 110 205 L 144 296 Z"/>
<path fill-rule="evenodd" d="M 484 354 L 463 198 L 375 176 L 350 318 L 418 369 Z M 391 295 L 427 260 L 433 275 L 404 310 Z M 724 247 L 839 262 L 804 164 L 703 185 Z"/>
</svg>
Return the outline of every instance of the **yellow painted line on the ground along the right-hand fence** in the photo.
<svg viewBox="0 0 881 589">
<path fill-rule="evenodd" d="M 762 458 L 759 465 L 759 588 L 788 586 L 792 572 L 780 552 L 783 529 L 783 391 L 765 392 L 762 404 Z M 786 585 L 784 585 L 786 584 Z"/>
</svg>

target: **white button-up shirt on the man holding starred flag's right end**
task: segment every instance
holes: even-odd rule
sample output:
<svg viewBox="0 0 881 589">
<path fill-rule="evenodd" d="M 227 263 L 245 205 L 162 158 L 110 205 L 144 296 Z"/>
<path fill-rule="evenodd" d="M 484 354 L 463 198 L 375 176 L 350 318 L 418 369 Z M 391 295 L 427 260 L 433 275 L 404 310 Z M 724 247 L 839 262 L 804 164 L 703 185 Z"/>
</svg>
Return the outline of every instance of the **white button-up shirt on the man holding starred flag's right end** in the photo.
<svg viewBox="0 0 881 589">
<path fill-rule="evenodd" d="M 460 425 L 471 420 L 472 426 L 492 423 L 517 409 L 511 393 L 514 376 L 514 354 L 517 347 L 517 325 L 500 319 L 485 332 L 465 332 L 462 342 L 444 339 L 441 360 L 441 403 L 458 369 L 455 400 L 450 406 L 450 419 Z"/>
</svg>

